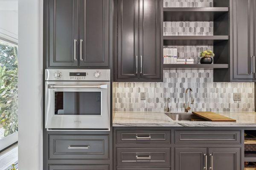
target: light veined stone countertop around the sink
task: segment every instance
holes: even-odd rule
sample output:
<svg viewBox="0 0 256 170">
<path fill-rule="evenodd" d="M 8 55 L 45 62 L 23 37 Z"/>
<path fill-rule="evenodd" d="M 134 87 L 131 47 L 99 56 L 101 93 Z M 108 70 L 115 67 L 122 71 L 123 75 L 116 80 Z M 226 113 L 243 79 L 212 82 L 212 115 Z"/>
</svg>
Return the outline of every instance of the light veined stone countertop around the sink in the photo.
<svg viewBox="0 0 256 170">
<path fill-rule="evenodd" d="M 256 112 L 215 112 L 236 122 L 174 121 L 163 112 L 113 112 L 113 126 L 122 127 L 256 127 Z"/>
</svg>

